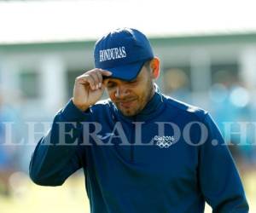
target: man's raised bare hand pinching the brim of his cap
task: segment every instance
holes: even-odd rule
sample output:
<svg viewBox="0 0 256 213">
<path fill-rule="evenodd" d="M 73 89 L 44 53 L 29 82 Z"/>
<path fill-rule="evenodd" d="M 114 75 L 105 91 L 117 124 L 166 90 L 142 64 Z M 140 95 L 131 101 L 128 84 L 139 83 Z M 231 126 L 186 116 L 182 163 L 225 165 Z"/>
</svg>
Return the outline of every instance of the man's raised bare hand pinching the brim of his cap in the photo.
<svg viewBox="0 0 256 213">
<path fill-rule="evenodd" d="M 103 76 L 111 76 L 112 72 L 102 69 L 92 69 L 76 78 L 73 88 L 73 104 L 81 111 L 85 111 L 102 97 L 105 85 Z"/>
</svg>

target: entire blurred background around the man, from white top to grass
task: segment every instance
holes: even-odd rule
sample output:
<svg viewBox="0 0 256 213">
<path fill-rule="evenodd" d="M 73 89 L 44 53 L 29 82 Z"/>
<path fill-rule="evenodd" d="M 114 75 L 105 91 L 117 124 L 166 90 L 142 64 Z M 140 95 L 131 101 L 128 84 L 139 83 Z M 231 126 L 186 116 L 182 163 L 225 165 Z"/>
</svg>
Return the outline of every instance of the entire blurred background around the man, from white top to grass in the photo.
<svg viewBox="0 0 256 213">
<path fill-rule="evenodd" d="M 38 187 L 28 165 L 97 38 L 123 26 L 150 38 L 166 95 L 212 114 L 256 212 L 255 20 L 249 1 L 0 1 L 0 212 L 90 212 L 83 174 Z"/>
</svg>

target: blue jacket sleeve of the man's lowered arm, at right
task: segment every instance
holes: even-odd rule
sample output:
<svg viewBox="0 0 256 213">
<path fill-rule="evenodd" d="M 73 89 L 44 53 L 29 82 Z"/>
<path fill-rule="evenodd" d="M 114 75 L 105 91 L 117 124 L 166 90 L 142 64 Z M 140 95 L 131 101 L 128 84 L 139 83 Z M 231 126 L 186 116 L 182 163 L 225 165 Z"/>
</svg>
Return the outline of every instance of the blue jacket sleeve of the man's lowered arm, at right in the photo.
<svg viewBox="0 0 256 213">
<path fill-rule="evenodd" d="M 204 124 L 207 141 L 200 147 L 201 192 L 213 213 L 247 213 L 249 207 L 241 179 L 224 138 L 209 114 Z"/>
</svg>

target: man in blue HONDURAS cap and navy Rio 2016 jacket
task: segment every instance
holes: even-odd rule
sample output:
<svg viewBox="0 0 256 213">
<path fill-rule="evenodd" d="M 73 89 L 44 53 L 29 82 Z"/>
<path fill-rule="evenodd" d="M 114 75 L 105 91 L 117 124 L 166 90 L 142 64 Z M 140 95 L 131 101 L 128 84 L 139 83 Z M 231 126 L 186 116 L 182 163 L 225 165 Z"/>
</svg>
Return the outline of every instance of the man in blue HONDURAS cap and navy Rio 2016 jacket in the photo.
<svg viewBox="0 0 256 213">
<path fill-rule="evenodd" d="M 93 213 L 248 212 L 228 148 L 207 112 L 160 93 L 160 60 L 142 32 L 97 41 L 96 68 L 76 78 L 30 164 L 59 186 L 84 169 Z M 99 101 L 104 89 L 110 100 Z M 99 102 L 97 102 L 99 101 Z"/>
</svg>

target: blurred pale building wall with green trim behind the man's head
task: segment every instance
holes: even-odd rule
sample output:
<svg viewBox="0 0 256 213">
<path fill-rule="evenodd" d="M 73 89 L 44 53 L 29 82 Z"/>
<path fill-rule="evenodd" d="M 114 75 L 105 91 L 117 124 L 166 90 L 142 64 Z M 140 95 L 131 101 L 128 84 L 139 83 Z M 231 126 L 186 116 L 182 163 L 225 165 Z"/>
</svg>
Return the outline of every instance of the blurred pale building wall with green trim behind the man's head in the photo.
<svg viewBox="0 0 256 213">
<path fill-rule="evenodd" d="M 150 41 L 161 60 L 160 88 L 182 101 L 209 108 L 211 94 L 213 99 L 224 95 L 220 85 L 255 89 L 256 33 L 150 37 Z M 94 43 L 0 43 L 5 99 L 20 105 L 24 118 L 52 116 L 72 97 L 74 79 L 94 67 Z M 212 86 L 217 94 L 210 93 Z M 253 98 L 241 95 L 244 103 Z"/>
</svg>

